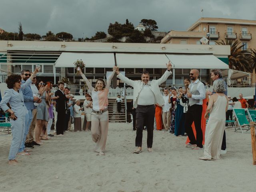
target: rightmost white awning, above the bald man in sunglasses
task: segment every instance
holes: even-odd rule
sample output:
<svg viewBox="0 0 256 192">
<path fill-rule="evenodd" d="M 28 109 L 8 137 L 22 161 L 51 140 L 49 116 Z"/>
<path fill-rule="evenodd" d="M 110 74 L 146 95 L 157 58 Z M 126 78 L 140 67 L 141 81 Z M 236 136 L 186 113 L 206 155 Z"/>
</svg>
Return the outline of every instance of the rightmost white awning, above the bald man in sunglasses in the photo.
<svg viewBox="0 0 256 192">
<path fill-rule="evenodd" d="M 166 54 L 178 69 L 228 69 L 228 65 L 212 54 Z"/>
</svg>

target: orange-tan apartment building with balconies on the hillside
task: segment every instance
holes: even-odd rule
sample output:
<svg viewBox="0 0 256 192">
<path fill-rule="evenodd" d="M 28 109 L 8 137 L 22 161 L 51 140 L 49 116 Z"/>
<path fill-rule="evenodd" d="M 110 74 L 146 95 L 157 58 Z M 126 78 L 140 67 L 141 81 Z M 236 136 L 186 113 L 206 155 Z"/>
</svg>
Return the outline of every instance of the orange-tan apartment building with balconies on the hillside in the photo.
<svg viewBox="0 0 256 192">
<path fill-rule="evenodd" d="M 225 38 L 238 40 L 244 49 L 256 48 L 256 20 L 200 18 L 186 31 L 171 30 L 161 41 L 170 44 L 201 44 L 200 39 L 209 35 L 209 44 Z"/>
</svg>

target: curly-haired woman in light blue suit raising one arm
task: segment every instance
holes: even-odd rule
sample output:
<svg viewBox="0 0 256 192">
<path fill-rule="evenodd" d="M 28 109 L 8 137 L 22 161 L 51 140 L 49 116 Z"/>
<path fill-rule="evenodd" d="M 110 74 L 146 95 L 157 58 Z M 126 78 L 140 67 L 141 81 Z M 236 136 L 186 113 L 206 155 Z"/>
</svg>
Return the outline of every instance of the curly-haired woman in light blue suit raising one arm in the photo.
<svg viewBox="0 0 256 192">
<path fill-rule="evenodd" d="M 24 90 L 26 86 L 30 86 L 38 71 L 39 68 L 36 68 L 34 73 L 24 84 L 21 84 L 20 75 L 10 75 L 6 79 L 8 89 L 4 92 L 4 97 L 0 102 L 0 107 L 4 112 L 9 112 L 11 115 L 10 123 L 12 125 L 12 143 L 8 157 L 8 164 L 10 165 L 16 165 L 18 163 L 15 158 L 19 148 L 21 147 L 25 131 L 25 116 L 28 110 L 24 105 L 22 90 Z M 10 104 L 12 109 L 7 106 L 7 103 Z"/>
</svg>

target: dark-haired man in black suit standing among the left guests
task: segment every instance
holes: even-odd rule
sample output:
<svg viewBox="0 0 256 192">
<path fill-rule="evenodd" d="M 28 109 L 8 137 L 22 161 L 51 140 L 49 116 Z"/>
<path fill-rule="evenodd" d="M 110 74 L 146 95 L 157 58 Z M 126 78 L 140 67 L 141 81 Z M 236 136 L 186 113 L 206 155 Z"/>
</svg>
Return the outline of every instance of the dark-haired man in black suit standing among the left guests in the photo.
<svg viewBox="0 0 256 192">
<path fill-rule="evenodd" d="M 64 94 L 64 83 L 59 82 L 58 83 L 58 90 L 55 92 L 54 96 L 58 96 L 59 98 L 56 99 L 56 112 L 57 114 L 57 122 L 56 122 L 56 134 L 64 134 L 64 127 L 65 127 L 65 121 L 64 118 L 66 117 L 66 113 L 68 112 L 68 106 L 67 101 L 68 98 L 66 98 Z"/>
</svg>

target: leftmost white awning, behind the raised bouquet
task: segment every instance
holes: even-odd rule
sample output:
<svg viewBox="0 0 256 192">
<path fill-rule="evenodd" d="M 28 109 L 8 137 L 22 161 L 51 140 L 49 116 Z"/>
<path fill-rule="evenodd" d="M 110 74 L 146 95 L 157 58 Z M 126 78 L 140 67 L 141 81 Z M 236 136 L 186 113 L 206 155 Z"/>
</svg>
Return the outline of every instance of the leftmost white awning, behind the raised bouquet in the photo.
<svg viewBox="0 0 256 192">
<path fill-rule="evenodd" d="M 80 59 L 82 59 L 86 67 L 112 68 L 115 65 L 113 53 L 62 52 L 58 60 L 56 60 L 55 66 L 56 67 L 74 67 L 74 62 Z"/>
</svg>

